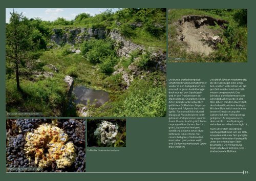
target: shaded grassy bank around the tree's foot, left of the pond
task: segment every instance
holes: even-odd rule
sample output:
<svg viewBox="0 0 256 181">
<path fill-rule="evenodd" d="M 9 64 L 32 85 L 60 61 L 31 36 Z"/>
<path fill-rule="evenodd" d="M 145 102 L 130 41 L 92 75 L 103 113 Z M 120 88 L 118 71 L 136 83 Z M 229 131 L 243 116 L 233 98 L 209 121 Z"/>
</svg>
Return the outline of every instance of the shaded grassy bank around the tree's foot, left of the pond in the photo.
<svg viewBox="0 0 256 181">
<path fill-rule="evenodd" d="M 44 112 L 46 116 L 60 116 L 61 107 L 66 100 L 66 84 L 63 76 L 55 74 L 53 78 L 39 78 L 31 81 L 20 78 L 23 92 L 17 91 L 14 76 L 6 80 L 6 110 L 9 112 Z"/>
</svg>

